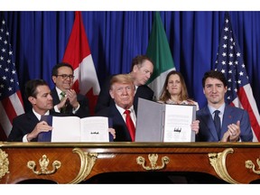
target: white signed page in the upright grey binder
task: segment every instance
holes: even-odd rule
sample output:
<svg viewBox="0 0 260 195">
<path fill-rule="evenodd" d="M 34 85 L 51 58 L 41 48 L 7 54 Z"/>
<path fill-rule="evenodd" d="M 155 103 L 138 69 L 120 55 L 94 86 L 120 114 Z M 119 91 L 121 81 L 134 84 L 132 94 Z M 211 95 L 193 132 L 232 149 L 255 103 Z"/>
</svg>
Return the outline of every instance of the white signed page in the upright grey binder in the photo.
<svg viewBox="0 0 260 195">
<path fill-rule="evenodd" d="M 164 142 L 191 142 L 193 106 L 166 105 Z"/>
</svg>

